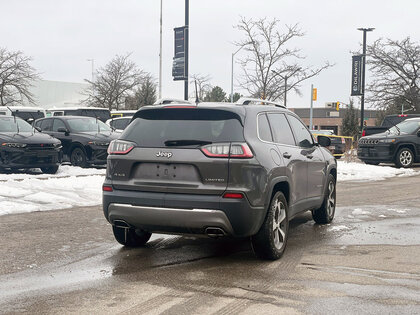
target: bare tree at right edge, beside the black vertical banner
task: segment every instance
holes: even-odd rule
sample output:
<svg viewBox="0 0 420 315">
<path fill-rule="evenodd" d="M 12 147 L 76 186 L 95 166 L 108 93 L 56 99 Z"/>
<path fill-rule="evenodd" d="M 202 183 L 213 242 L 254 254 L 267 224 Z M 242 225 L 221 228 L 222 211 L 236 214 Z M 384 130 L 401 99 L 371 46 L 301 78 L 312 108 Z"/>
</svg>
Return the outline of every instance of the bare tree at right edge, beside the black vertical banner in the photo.
<svg viewBox="0 0 420 315">
<path fill-rule="evenodd" d="M 420 111 L 420 45 L 410 37 L 402 41 L 378 39 L 367 47 L 373 81 L 367 100 L 381 109 Z"/>
</svg>

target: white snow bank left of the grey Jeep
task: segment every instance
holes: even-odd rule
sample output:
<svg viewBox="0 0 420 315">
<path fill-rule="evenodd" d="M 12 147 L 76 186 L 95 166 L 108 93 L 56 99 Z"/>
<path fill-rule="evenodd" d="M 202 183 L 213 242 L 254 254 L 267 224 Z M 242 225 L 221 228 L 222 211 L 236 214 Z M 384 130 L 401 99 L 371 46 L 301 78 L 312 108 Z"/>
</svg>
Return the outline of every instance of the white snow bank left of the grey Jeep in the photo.
<svg viewBox="0 0 420 315">
<path fill-rule="evenodd" d="M 61 166 L 57 174 L 1 174 L 0 215 L 101 203 L 105 169 Z"/>
</svg>

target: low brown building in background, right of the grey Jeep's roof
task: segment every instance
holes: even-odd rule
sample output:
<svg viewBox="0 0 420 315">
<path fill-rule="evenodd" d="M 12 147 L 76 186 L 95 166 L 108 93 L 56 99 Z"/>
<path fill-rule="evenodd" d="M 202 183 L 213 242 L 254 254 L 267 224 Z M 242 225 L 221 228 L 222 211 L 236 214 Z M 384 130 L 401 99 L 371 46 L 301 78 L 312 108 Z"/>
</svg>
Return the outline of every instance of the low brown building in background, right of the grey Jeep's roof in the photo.
<svg viewBox="0 0 420 315">
<path fill-rule="evenodd" d="M 303 122 L 309 127 L 310 108 L 289 108 L 296 115 L 298 115 Z M 316 130 L 333 130 L 336 135 L 341 135 L 341 126 L 346 108 L 336 110 L 331 107 L 314 107 L 312 114 L 313 129 Z M 357 110 L 360 117 L 360 110 Z M 364 120 L 366 126 L 375 126 L 376 110 L 365 110 Z"/>
</svg>

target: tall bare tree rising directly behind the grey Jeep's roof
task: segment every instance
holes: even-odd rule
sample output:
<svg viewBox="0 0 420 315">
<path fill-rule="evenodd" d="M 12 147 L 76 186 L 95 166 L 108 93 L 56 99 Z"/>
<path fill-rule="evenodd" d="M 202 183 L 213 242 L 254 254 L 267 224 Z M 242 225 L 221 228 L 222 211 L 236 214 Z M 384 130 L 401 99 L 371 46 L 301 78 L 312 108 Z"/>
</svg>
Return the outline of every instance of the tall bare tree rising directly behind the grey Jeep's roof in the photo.
<svg viewBox="0 0 420 315">
<path fill-rule="evenodd" d="M 298 25 L 286 25 L 281 32 L 279 23 L 278 19 L 241 18 L 237 25 L 245 38 L 236 45 L 248 52 L 240 60 L 244 72 L 240 83 L 253 97 L 278 100 L 290 90 L 300 94 L 300 83 L 331 67 L 328 62 L 319 68 L 300 65 L 298 61 L 305 57 L 300 55 L 300 49 L 289 46 L 293 39 L 304 34 Z"/>
</svg>

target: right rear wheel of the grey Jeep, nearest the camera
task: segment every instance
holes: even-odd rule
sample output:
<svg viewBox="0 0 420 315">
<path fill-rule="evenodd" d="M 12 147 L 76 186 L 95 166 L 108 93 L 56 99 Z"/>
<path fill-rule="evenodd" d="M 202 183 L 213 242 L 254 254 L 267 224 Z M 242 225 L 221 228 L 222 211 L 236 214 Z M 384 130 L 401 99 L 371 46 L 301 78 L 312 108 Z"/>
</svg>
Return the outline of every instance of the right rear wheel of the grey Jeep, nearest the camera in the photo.
<svg viewBox="0 0 420 315">
<path fill-rule="evenodd" d="M 258 233 L 251 237 L 251 245 L 258 258 L 279 259 L 289 236 L 289 208 L 282 192 L 276 192 L 270 201 L 264 223 Z"/>
</svg>

